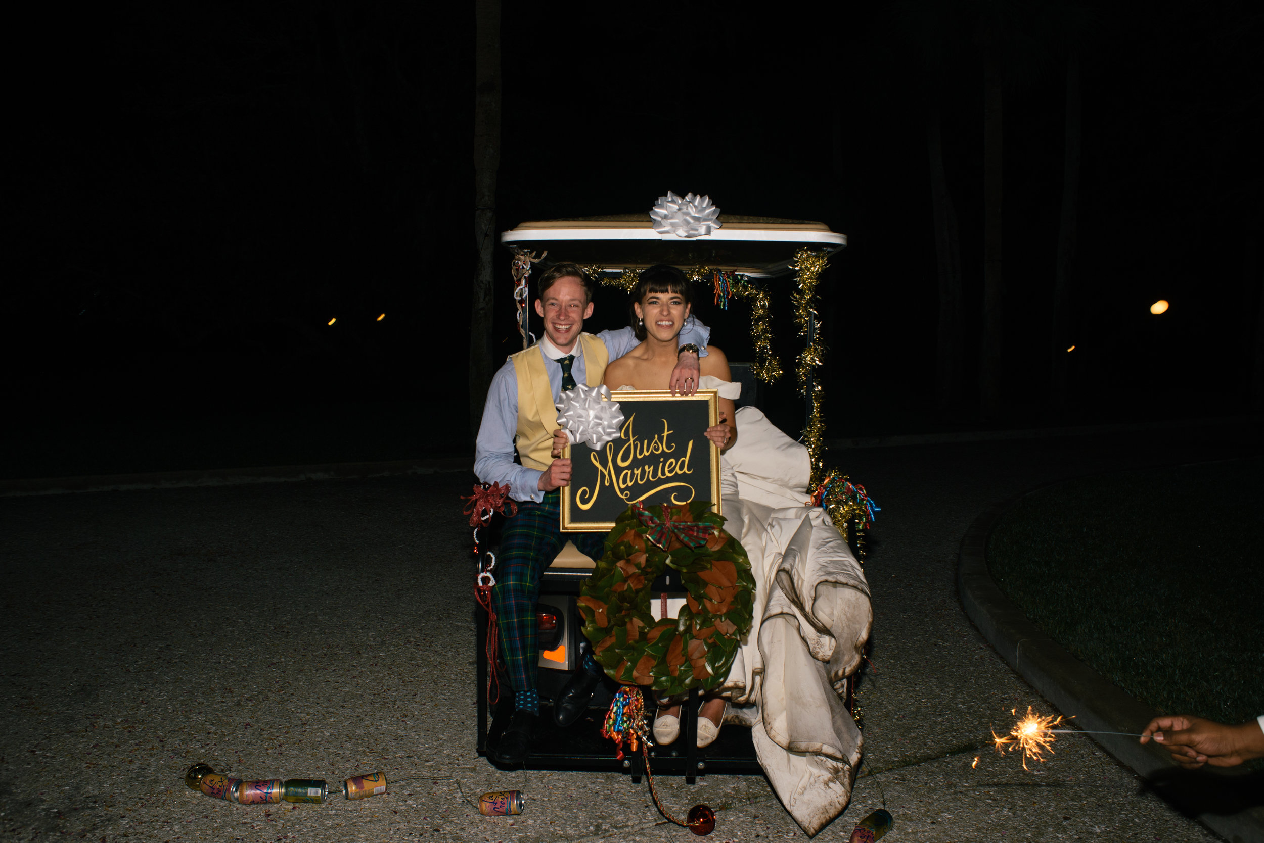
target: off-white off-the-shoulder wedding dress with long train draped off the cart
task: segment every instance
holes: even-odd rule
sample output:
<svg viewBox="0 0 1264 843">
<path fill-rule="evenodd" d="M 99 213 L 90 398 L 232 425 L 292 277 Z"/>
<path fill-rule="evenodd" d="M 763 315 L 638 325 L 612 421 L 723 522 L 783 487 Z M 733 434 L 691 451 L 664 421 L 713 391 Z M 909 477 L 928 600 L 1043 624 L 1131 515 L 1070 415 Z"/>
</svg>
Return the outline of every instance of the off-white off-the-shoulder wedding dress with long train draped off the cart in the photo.
<svg viewBox="0 0 1264 843">
<path fill-rule="evenodd" d="M 742 385 L 704 375 L 699 389 L 736 399 Z M 736 422 L 737 442 L 720 456 L 722 506 L 751 558 L 755 617 L 720 689 L 726 722 L 751 727 L 777 796 L 815 834 L 847 808 L 861 760 L 844 685 L 873 620 L 868 583 L 825 511 L 806 505 L 808 449 L 753 406 Z"/>
</svg>

